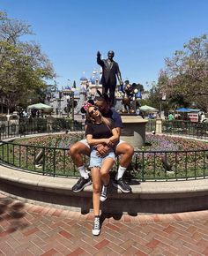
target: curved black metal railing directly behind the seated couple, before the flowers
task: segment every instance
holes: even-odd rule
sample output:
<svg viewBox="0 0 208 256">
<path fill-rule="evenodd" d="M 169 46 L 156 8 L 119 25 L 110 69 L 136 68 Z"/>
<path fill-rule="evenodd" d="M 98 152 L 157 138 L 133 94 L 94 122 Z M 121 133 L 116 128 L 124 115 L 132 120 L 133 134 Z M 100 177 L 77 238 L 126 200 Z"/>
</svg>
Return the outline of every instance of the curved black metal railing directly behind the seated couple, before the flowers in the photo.
<svg viewBox="0 0 208 256">
<path fill-rule="evenodd" d="M 76 177 L 69 148 L 39 147 L 2 142 L 0 161 L 42 175 Z M 88 157 L 85 157 L 88 166 Z M 116 171 L 117 165 L 113 169 Z M 126 178 L 145 180 L 189 179 L 208 176 L 208 149 L 187 151 L 136 151 Z"/>
</svg>

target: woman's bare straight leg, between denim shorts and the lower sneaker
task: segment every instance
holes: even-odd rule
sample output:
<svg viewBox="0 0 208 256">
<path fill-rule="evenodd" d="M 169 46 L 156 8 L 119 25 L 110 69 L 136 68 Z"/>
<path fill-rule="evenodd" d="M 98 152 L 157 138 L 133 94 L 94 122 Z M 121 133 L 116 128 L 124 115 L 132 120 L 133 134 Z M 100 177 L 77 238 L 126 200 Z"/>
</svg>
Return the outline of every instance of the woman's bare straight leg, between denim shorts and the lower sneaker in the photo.
<svg viewBox="0 0 208 256">
<path fill-rule="evenodd" d="M 93 167 L 91 169 L 91 176 L 93 179 L 93 211 L 94 215 L 98 216 L 100 215 L 100 168 Z"/>
</svg>

